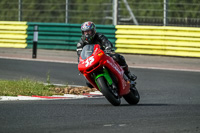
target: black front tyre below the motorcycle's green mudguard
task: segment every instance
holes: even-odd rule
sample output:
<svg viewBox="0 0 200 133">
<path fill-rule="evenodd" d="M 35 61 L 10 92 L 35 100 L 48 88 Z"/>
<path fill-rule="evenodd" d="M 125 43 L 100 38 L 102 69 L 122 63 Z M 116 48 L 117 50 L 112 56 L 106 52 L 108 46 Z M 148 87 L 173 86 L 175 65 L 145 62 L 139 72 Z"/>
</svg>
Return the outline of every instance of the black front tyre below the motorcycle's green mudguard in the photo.
<svg viewBox="0 0 200 133">
<path fill-rule="evenodd" d="M 112 88 L 108 85 L 108 82 L 104 77 L 99 77 L 97 79 L 97 83 L 102 94 L 112 105 L 119 106 L 121 104 L 121 99 L 117 93 L 117 90 L 112 90 Z"/>
</svg>

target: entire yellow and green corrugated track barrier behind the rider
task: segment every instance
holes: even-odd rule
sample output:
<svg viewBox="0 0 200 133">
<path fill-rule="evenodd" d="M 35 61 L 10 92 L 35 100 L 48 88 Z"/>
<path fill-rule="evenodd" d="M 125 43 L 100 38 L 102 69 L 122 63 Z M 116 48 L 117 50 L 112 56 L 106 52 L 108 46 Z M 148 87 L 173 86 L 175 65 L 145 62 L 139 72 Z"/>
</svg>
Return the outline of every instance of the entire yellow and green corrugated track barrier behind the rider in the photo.
<svg viewBox="0 0 200 133">
<path fill-rule="evenodd" d="M 81 24 L 0 21 L 0 47 L 76 50 Z M 117 53 L 200 57 L 200 28 L 170 26 L 96 25 Z"/>
</svg>

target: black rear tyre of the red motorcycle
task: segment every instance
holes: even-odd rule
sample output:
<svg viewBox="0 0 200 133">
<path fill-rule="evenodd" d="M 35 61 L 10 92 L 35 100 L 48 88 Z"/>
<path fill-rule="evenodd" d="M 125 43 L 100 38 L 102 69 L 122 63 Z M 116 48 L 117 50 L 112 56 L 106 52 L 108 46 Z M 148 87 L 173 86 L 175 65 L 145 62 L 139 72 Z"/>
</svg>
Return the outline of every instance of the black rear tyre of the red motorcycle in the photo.
<svg viewBox="0 0 200 133">
<path fill-rule="evenodd" d="M 131 87 L 130 92 L 123 97 L 131 105 L 136 105 L 140 101 L 140 95 L 135 86 Z"/>
</svg>

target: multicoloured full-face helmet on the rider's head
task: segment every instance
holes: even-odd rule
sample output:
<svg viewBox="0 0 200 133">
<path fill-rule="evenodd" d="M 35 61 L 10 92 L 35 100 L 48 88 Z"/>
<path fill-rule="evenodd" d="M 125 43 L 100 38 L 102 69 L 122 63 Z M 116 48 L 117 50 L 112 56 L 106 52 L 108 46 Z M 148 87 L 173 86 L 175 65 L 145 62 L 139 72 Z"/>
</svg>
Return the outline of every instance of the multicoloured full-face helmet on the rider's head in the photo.
<svg viewBox="0 0 200 133">
<path fill-rule="evenodd" d="M 82 39 L 85 43 L 91 43 L 96 34 L 95 24 L 91 21 L 87 21 L 81 25 Z"/>
</svg>

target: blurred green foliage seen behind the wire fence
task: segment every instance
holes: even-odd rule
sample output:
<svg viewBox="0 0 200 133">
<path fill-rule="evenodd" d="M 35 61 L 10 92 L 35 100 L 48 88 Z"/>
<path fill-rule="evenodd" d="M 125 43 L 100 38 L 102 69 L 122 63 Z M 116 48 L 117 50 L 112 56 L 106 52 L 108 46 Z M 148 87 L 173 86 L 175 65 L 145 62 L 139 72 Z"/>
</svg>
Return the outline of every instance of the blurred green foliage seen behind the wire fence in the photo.
<svg viewBox="0 0 200 133">
<path fill-rule="evenodd" d="M 18 21 L 18 1 L 0 1 L 0 20 Z M 163 0 L 127 0 L 134 15 L 141 21 L 163 19 Z M 68 0 L 68 22 L 112 24 L 112 0 Z M 65 22 L 66 0 L 22 0 L 22 20 L 29 22 Z M 119 17 L 130 17 L 125 4 L 119 0 Z M 198 19 L 200 16 L 198 0 L 168 0 L 168 18 Z"/>
</svg>

